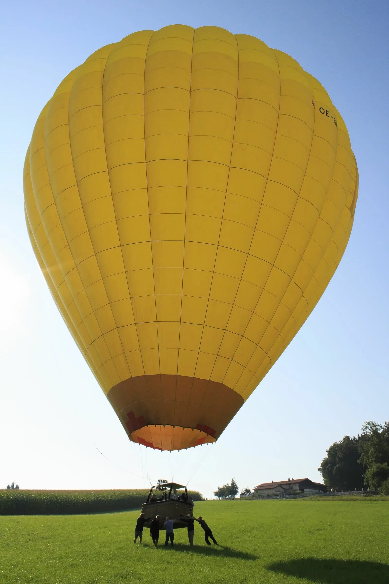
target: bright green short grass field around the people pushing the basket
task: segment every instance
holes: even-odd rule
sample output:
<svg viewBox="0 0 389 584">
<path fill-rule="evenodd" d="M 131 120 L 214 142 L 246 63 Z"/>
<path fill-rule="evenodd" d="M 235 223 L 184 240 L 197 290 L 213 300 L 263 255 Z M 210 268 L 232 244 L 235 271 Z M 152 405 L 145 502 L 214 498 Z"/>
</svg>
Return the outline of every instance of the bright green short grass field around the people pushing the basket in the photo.
<svg viewBox="0 0 389 584">
<path fill-rule="evenodd" d="M 0 583 L 388 584 L 389 501 L 204 501 L 220 547 L 176 530 L 132 543 L 139 512 L 0 517 Z M 164 532 L 160 534 L 160 544 Z"/>
</svg>

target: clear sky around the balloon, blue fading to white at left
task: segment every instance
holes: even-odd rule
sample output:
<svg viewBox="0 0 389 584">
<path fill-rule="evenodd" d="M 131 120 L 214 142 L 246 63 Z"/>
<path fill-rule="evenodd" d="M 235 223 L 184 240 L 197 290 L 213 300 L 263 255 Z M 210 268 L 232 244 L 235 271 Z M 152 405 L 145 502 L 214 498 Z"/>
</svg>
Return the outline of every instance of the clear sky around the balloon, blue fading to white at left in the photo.
<svg viewBox="0 0 389 584">
<path fill-rule="evenodd" d="M 388 15 L 379 0 L 3 3 L 0 488 L 194 475 L 189 485 L 209 497 L 233 475 L 240 487 L 318 480 L 332 442 L 389 418 Z M 62 322 L 27 239 L 22 169 L 37 116 L 71 69 L 104 44 L 174 23 L 253 34 L 292 55 L 344 117 L 360 183 L 344 259 L 295 340 L 217 444 L 169 454 L 129 443 Z"/>
</svg>

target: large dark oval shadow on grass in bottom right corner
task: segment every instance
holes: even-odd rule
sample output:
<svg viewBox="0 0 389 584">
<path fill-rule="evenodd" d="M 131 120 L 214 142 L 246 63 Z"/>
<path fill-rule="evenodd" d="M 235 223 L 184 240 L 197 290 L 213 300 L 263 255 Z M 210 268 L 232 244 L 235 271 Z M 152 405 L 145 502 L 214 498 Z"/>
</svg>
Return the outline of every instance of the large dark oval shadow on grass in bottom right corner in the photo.
<svg viewBox="0 0 389 584">
<path fill-rule="evenodd" d="M 356 559 L 291 559 L 267 566 L 271 572 L 307 578 L 323 584 L 387 584 L 389 565 L 379 562 L 362 562 Z"/>
</svg>

